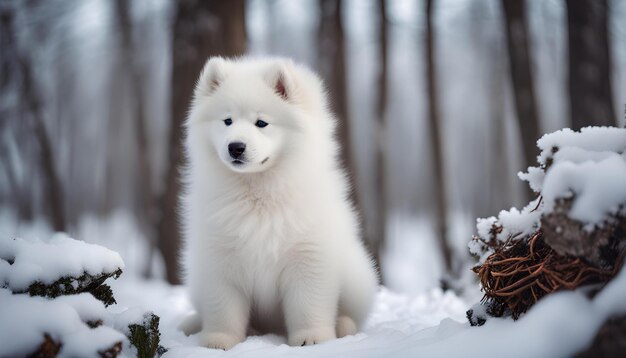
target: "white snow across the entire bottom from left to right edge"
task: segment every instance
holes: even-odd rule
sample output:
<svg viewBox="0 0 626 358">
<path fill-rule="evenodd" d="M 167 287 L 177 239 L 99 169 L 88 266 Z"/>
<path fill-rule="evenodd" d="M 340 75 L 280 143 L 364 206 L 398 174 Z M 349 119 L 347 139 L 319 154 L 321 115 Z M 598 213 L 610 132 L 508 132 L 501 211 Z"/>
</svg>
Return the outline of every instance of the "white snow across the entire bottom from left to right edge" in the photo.
<svg viewBox="0 0 626 358">
<path fill-rule="evenodd" d="M 168 348 L 164 356 L 166 358 L 347 355 L 354 358 L 568 357 L 591 343 L 595 332 L 609 315 L 626 312 L 626 271 L 622 271 L 593 300 L 586 298 L 582 292 L 557 293 L 541 300 L 518 321 L 491 318 L 481 327 L 469 326 L 465 319 L 468 300 L 452 292 L 435 288 L 415 295 L 404 295 L 381 288 L 369 321 L 363 332 L 355 336 L 308 347 L 289 347 L 286 339 L 277 335 L 251 336 L 225 352 L 200 347 L 197 336 L 185 337 L 176 329 L 176 325 L 191 310 L 183 287 L 133 277 L 122 277 L 111 284 L 118 305 L 107 309 L 108 312 L 103 312 L 100 307 L 97 309 L 100 310 L 99 314 L 104 316 L 105 322 L 122 316 L 122 321 L 133 321 L 141 320 L 142 315 L 132 307 L 154 311 L 161 317 L 161 344 Z M 478 291 L 479 288 L 475 286 L 473 290 Z M 119 333 L 106 327 L 92 331 L 81 328 L 79 318 L 89 314 L 81 312 L 81 307 L 90 311 L 87 307 L 92 306 L 88 304 L 88 295 L 72 297 L 69 301 L 23 296 L 17 298 L 6 290 L 0 291 L 0 301 L 3 302 L 0 305 L 0 317 L 8 318 L 0 320 L 0 355 L 11 355 L 6 352 L 20 355 L 18 352 L 25 352 L 24 347 L 32 347 L 29 343 L 40 339 L 50 322 L 55 322 L 58 337 L 70 339 L 68 342 L 71 344 L 63 347 L 63 356 L 93 355 L 96 346 L 104 347 L 116 339 L 125 340 Z M 30 301 L 37 305 L 32 305 Z M 115 314 L 112 308 L 121 313 Z M 28 326 L 14 323 L 25 322 L 26 319 L 31 322 Z M 34 322 L 39 325 L 37 328 L 33 328 Z M 56 322 L 60 322 L 60 327 L 56 327 Z M 11 333 L 7 335 L 6 332 Z M 86 338 L 87 333 L 97 336 Z M 126 348 L 124 352 L 123 356 L 132 356 Z"/>
</svg>

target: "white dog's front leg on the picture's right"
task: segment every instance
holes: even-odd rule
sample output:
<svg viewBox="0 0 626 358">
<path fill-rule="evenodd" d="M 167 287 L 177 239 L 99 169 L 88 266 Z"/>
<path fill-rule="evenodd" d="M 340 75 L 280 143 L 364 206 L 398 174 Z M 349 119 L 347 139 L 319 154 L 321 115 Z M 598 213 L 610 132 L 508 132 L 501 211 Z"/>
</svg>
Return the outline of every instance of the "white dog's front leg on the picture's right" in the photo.
<svg viewBox="0 0 626 358">
<path fill-rule="evenodd" d="M 329 262 L 311 251 L 290 253 L 281 277 L 281 295 L 291 346 L 321 343 L 336 338 L 339 285 Z"/>
</svg>

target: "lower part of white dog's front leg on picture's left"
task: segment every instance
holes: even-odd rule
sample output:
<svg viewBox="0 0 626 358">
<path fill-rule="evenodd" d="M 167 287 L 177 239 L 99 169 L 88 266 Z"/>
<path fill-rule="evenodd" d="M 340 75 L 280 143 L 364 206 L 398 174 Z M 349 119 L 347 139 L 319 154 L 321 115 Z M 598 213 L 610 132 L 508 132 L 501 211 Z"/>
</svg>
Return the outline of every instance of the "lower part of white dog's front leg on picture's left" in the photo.
<svg viewBox="0 0 626 358">
<path fill-rule="evenodd" d="M 245 340 L 250 303 L 240 290 L 227 283 L 206 287 L 201 312 L 203 346 L 228 350 Z"/>
</svg>

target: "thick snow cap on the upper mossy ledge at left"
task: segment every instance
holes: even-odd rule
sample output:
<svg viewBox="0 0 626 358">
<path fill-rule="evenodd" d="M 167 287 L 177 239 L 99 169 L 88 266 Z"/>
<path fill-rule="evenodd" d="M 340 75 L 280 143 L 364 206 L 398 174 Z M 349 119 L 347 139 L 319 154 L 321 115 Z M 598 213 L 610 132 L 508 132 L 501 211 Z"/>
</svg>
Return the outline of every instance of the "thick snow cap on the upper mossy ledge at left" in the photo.
<svg viewBox="0 0 626 358">
<path fill-rule="evenodd" d="M 64 276 L 99 275 L 124 268 L 115 251 L 65 234 L 55 234 L 48 240 L 3 238 L 0 258 L 5 260 L 0 265 L 0 282 L 12 291 L 26 290 L 36 281 L 51 284 Z"/>
</svg>

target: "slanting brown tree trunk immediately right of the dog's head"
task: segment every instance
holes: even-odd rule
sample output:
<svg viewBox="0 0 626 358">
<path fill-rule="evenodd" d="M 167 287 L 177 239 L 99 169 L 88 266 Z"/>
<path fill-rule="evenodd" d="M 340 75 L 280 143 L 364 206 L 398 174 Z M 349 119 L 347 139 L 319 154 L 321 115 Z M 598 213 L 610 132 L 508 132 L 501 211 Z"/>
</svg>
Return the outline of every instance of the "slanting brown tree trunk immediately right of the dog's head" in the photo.
<svg viewBox="0 0 626 358">
<path fill-rule="evenodd" d="M 318 68 L 324 78 L 330 92 L 330 104 L 337 116 L 336 138 L 341 147 L 341 162 L 351 179 L 352 190 L 350 199 L 355 209 L 363 217 L 361 202 L 358 196 L 356 185 L 356 167 L 352 152 L 352 141 L 350 138 L 350 117 L 348 113 L 348 93 L 346 83 L 346 63 L 345 63 L 345 36 L 342 21 L 341 0 L 320 0 L 320 23 L 317 34 L 318 46 Z M 375 251 L 372 246 L 373 240 L 368 236 L 370 233 L 364 232 L 366 243 L 371 252 Z M 380 266 L 376 261 L 377 266 Z"/>
</svg>

